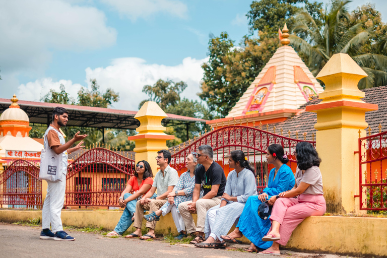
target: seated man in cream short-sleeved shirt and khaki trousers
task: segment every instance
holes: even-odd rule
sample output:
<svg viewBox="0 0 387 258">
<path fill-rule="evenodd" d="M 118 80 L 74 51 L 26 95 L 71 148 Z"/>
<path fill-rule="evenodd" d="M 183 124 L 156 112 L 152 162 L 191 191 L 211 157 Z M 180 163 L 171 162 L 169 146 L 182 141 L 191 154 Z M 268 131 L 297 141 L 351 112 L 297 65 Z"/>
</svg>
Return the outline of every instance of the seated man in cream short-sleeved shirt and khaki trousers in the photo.
<svg viewBox="0 0 387 258">
<path fill-rule="evenodd" d="M 168 150 L 158 151 L 156 161 L 160 170 L 155 175 L 151 189 L 139 202 L 137 202 L 135 223 L 133 225 L 136 228 L 136 231 L 127 235 L 126 238 L 140 237 L 140 239 L 146 240 L 155 237 L 156 221 L 160 220 L 160 216 L 156 215 L 156 211 L 167 202 L 168 193 L 173 190 L 173 187 L 179 180 L 176 169 L 169 166 L 169 163 L 171 162 L 171 153 Z M 156 189 L 157 197 L 156 199 L 151 199 Z M 143 223 L 143 217 L 145 217 L 144 210 L 149 210 L 149 216 L 152 217 L 153 220 L 152 222 L 147 222 L 146 227 L 149 228 L 149 232 L 142 236 L 141 224 Z"/>
</svg>

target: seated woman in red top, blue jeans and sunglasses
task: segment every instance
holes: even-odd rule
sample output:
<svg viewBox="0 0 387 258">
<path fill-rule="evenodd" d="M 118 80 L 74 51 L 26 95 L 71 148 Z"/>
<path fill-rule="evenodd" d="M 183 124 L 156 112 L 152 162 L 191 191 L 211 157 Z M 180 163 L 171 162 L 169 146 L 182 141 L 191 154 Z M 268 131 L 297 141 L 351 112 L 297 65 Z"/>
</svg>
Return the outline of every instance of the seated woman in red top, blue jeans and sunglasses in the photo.
<svg viewBox="0 0 387 258">
<path fill-rule="evenodd" d="M 136 212 L 136 203 L 145 193 L 149 191 L 153 184 L 153 173 L 149 163 L 145 160 L 139 161 L 136 165 L 135 175 L 132 176 L 121 192 L 118 199 L 119 206 L 125 208 L 114 230 L 107 236 L 119 236 L 125 232 L 133 223 Z M 133 192 L 130 193 L 130 192 Z"/>
</svg>

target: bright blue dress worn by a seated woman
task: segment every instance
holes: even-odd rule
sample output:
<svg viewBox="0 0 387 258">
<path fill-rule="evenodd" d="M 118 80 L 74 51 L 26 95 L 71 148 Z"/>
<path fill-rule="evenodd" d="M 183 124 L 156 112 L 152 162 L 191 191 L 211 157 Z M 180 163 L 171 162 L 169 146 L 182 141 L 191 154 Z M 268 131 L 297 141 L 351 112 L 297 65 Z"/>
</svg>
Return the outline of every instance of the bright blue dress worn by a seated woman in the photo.
<svg viewBox="0 0 387 258">
<path fill-rule="evenodd" d="M 278 170 L 275 178 L 274 171 L 275 168 L 270 171 L 268 187 L 263 190 L 263 192 L 266 192 L 269 195 L 269 199 L 272 196 L 278 195 L 280 192 L 290 190 L 295 184 L 294 174 L 288 165 L 283 164 Z M 264 242 L 262 241 L 262 237 L 268 233 L 271 223 L 270 217 L 263 220 L 258 215 L 257 210 L 261 203 L 258 196 L 250 196 L 247 199 L 236 227 L 239 227 L 239 230 L 243 235 L 256 247 L 267 249 L 272 246 L 273 242 Z"/>
</svg>

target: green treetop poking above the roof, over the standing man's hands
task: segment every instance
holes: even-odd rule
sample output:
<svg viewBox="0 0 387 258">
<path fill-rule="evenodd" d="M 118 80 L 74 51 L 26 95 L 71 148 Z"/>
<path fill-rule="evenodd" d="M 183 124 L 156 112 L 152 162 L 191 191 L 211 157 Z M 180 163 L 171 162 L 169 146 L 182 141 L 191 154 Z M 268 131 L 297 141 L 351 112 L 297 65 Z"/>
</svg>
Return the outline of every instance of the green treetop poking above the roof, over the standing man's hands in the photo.
<svg viewBox="0 0 387 258">
<path fill-rule="evenodd" d="M 119 100 L 119 94 L 108 88 L 105 93 L 99 91 L 96 79 L 90 79 L 91 91 L 82 87 L 78 91 L 78 103 L 80 106 L 108 107 Z"/>
</svg>

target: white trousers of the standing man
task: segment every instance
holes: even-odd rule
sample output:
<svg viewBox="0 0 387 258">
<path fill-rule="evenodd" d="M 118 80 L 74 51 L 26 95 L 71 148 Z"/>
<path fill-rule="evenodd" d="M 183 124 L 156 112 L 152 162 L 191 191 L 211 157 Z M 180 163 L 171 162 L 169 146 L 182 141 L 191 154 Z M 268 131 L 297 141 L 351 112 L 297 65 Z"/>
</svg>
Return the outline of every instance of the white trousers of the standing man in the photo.
<svg viewBox="0 0 387 258">
<path fill-rule="evenodd" d="M 51 231 L 57 232 L 63 230 L 60 213 L 64 204 L 64 190 L 66 189 L 66 175 L 63 181 L 47 181 L 47 196 L 44 199 L 42 210 L 42 228 L 50 228 Z"/>
</svg>

